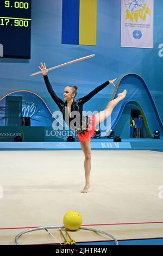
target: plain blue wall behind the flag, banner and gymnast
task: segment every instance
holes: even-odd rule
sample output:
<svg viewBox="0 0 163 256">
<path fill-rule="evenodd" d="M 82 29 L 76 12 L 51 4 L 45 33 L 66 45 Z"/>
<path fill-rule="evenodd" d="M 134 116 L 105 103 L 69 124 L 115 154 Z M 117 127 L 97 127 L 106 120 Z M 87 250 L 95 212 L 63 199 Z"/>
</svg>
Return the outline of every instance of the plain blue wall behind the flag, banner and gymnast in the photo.
<svg viewBox="0 0 163 256">
<path fill-rule="evenodd" d="M 163 119 L 163 57 L 159 45 L 163 44 L 163 4 L 154 1 L 154 48 L 120 47 L 121 1 L 97 0 L 97 45 L 61 44 L 61 0 L 32 1 L 31 59 L 0 59 L 0 97 L 18 89 L 40 95 L 53 112 L 58 107 L 47 93 L 42 76 L 30 77 L 39 70 L 40 62 L 47 67 L 69 62 L 95 53 L 92 59 L 49 72 L 55 92 L 62 97 L 67 84 L 78 85 L 78 97 L 90 92 L 98 84 L 124 74 L 136 73 L 143 77 Z M 86 103 L 84 110 L 102 110 L 109 101 L 114 87 L 106 87 Z"/>
</svg>

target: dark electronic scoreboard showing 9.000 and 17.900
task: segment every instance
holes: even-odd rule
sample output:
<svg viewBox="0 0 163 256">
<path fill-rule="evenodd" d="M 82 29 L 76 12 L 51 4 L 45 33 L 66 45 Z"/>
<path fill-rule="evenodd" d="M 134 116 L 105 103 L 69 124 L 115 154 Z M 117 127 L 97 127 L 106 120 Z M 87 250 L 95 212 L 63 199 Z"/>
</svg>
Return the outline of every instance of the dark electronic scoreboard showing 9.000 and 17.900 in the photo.
<svg viewBox="0 0 163 256">
<path fill-rule="evenodd" d="M 0 57 L 30 59 L 31 0 L 0 0 Z"/>
</svg>

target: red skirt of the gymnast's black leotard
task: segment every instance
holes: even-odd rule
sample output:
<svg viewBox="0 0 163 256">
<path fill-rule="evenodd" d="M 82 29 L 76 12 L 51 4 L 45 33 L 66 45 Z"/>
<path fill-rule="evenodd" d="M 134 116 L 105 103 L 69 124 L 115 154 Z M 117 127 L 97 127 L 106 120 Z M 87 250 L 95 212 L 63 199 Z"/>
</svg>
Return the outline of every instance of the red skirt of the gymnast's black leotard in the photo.
<svg viewBox="0 0 163 256">
<path fill-rule="evenodd" d="M 89 141 L 89 139 L 93 138 L 95 135 L 95 115 L 87 115 L 88 118 L 88 126 L 85 131 L 77 133 L 77 138 L 80 142 Z"/>
</svg>

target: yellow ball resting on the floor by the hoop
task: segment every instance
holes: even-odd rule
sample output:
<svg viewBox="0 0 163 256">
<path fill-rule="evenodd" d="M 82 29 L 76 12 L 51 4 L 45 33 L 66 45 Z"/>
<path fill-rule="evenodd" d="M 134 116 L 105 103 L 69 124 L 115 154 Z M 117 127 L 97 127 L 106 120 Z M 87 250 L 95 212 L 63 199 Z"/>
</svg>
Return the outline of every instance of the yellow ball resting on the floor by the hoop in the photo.
<svg viewBox="0 0 163 256">
<path fill-rule="evenodd" d="M 77 211 L 68 211 L 63 218 L 65 228 L 78 230 L 82 225 L 82 216 Z"/>
</svg>

